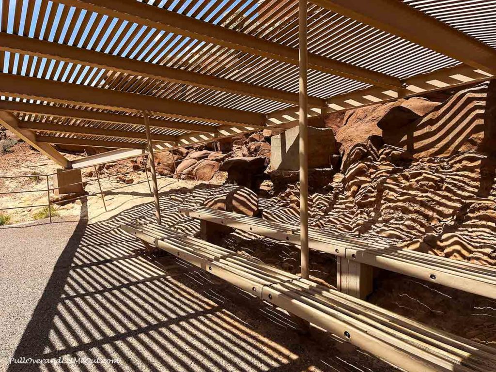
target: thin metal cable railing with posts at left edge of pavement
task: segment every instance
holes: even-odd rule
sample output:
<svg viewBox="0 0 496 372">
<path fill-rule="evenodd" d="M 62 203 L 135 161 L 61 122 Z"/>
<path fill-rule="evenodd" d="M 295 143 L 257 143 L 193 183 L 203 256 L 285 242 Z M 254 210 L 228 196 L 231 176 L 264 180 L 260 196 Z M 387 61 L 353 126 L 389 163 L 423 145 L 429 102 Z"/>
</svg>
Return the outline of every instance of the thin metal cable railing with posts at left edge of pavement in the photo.
<svg viewBox="0 0 496 372">
<path fill-rule="evenodd" d="M 132 169 L 132 170 L 127 171 L 127 172 L 120 172 L 120 173 L 116 173 L 116 174 L 111 174 L 111 175 L 104 176 L 104 177 L 100 177 L 99 176 L 98 169 L 97 169 L 96 166 L 82 167 L 82 168 L 78 168 L 81 171 L 81 173 L 83 172 L 84 169 L 93 168 L 94 171 L 95 171 L 96 177 L 95 178 L 85 179 L 84 181 L 80 181 L 80 182 L 66 184 L 66 185 L 63 185 L 63 186 L 57 186 L 57 187 L 50 187 L 50 177 L 56 176 L 57 175 L 57 172 L 56 173 L 46 174 L 46 175 L 35 174 L 35 175 L 23 175 L 23 176 L 0 176 L 0 180 L 4 180 L 4 179 L 16 179 L 16 178 L 30 178 L 30 179 L 33 179 L 33 178 L 40 178 L 40 179 L 41 178 L 45 178 L 46 181 L 47 181 L 47 187 L 46 188 L 42 188 L 42 189 L 29 189 L 29 190 L 2 191 L 2 192 L 0 192 L 0 195 L 21 194 L 21 193 L 28 193 L 28 192 L 46 192 L 47 193 L 47 203 L 46 204 L 23 205 L 23 206 L 16 206 L 16 207 L 1 207 L 1 205 L 0 205 L 0 212 L 1 211 L 5 211 L 5 210 L 13 210 L 13 209 L 29 209 L 29 208 L 45 208 L 45 207 L 48 207 L 49 219 L 50 219 L 50 223 L 52 223 L 52 206 L 53 205 L 58 205 L 58 204 L 67 203 L 67 202 L 71 202 L 71 201 L 75 201 L 75 200 L 79 200 L 79 199 L 88 198 L 90 196 L 98 196 L 98 195 L 101 196 L 104 209 L 107 212 L 107 205 L 105 203 L 105 194 L 108 193 L 108 192 L 119 190 L 119 189 L 122 189 L 122 188 L 125 188 L 125 187 L 136 186 L 136 185 L 140 185 L 140 184 L 143 184 L 143 183 L 148 183 L 148 188 L 150 189 L 150 194 L 152 194 L 152 187 L 150 186 L 150 178 L 148 176 L 148 170 L 147 170 L 148 155 L 139 155 L 139 156 L 136 156 L 136 157 L 133 157 L 133 158 L 130 158 L 130 159 L 137 159 L 137 158 L 143 158 L 143 167 L 139 167 L 138 169 Z M 177 180 L 179 181 L 179 176 L 181 174 L 179 174 L 177 172 L 177 166 L 176 166 L 176 164 L 178 162 L 181 162 L 181 161 L 183 161 L 183 159 L 173 160 L 173 161 L 168 162 L 168 163 L 165 163 L 165 164 L 160 164 L 161 166 L 162 165 L 168 166 L 168 165 L 171 165 L 172 164 L 174 166 L 174 173 L 173 174 L 170 174 L 170 175 L 165 175 L 165 176 L 157 176 L 157 180 L 160 180 L 160 179 L 163 179 L 163 178 L 176 177 Z M 103 164 L 103 166 L 105 167 L 105 164 Z M 70 172 L 70 171 L 74 171 L 74 170 L 73 169 L 68 169 L 68 170 L 62 171 L 62 172 Z M 113 187 L 111 189 L 106 189 L 106 190 L 104 190 L 102 188 L 102 184 L 101 184 L 101 181 L 102 180 L 109 179 L 109 178 L 112 178 L 112 177 L 124 176 L 124 175 L 131 174 L 131 173 L 138 173 L 138 172 L 142 172 L 142 171 L 144 171 L 144 173 L 146 175 L 146 180 L 138 181 L 138 182 L 133 182 L 132 184 L 128 184 L 128 185 L 124 185 L 124 186 L 117 186 L 117 187 Z M 60 172 L 59 172 L 59 174 L 60 174 Z M 85 193 L 84 195 L 75 196 L 75 197 L 72 197 L 72 198 L 69 198 L 69 199 L 62 199 L 62 200 L 58 200 L 58 201 L 51 200 L 51 193 L 53 193 L 55 195 L 55 191 L 58 190 L 58 189 L 60 189 L 60 188 L 67 188 L 67 187 L 70 187 L 70 186 L 77 186 L 77 185 L 83 185 L 83 184 L 84 185 L 87 185 L 87 184 L 94 183 L 94 182 L 97 182 L 98 183 L 98 188 L 99 188 L 100 191 L 92 192 L 92 193 Z"/>
</svg>

